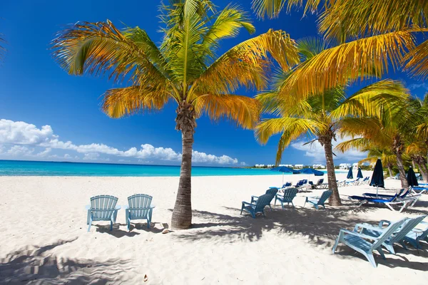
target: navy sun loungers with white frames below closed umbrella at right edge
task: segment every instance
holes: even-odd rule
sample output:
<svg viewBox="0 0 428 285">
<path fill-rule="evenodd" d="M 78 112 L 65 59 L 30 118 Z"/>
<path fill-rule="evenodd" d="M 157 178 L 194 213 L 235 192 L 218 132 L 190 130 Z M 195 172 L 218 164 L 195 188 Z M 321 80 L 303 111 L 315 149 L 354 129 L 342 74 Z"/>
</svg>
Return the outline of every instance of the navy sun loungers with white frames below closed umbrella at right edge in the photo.
<svg viewBox="0 0 428 285">
<path fill-rule="evenodd" d="M 357 201 L 358 207 L 362 204 L 373 203 L 373 204 L 384 204 L 392 211 L 395 211 L 393 205 L 399 206 L 399 212 L 407 207 L 413 207 L 417 200 L 421 197 L 421 194 L 412 195 L 412 190 L 400 190 L 395 195 L 382 195 L 374 193 L 364 193 L 362 196 L 350 196 L 349 199 Z"/>
</svg>

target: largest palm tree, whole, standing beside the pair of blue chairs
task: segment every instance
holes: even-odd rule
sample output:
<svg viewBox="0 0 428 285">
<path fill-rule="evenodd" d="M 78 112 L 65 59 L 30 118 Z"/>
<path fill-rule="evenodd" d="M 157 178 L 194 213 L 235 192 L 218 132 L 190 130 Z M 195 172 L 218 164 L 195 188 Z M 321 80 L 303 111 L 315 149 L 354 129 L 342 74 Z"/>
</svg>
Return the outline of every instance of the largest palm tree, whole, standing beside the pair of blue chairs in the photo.
<svg viewBox="0 0 428 285">
<path fill-rule="evenodd" d="M 266 87 L 270 56 L 287 69 L 297 63 L 295 42 L 285 32 L 267 31 L 216 56 L 220 40 L 241 28 L 254 33 L 248 14 L 238 6 L 216 11 L 209 0 L 171 0 L 161 6 L 160 46 L 142 28 L 123 31 L 111 21 L 78 23 L 58 33 L 54 58 L 71 75 L 107 73 L 130 86 L 103 95 L 103 111 L 112 118 L 177 104 L 176 130 L 182 133 L 180 182 L 172 227 L 192 222 L 191 167 L 196 119 L 227 118 L 252 129 L 260 117 L 257 100 L 235 95 L 238 88 Z"/>
</svg>

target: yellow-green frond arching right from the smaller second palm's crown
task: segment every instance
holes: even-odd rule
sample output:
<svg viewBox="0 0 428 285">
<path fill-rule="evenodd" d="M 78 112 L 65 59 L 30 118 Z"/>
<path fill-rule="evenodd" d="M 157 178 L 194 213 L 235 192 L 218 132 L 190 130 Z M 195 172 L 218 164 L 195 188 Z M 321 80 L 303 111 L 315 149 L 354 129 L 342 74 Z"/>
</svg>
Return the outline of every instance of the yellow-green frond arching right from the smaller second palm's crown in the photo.
<svg viewBox="0 0 428 285">
<path fill-rule="evenodd" d="M 409 98 L 409 90 L 404 88 L 400 81 L 385 79 L 358 90 L 332 110 L 330 116 L 332 118 L 346 116 L 382 118 L 383 115 L 387 115 L 385 110 L 404 102 L 407 98 Z"/>
</svg>

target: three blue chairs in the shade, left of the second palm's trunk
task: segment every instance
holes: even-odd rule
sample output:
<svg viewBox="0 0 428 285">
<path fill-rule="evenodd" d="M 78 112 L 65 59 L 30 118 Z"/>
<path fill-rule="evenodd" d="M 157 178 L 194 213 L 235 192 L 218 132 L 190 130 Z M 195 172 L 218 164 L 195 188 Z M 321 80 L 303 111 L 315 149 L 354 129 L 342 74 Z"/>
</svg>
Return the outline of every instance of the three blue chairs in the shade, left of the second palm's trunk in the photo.
<svg viewBox="0 0 428 285">
<path fill-rule="evenodd" d="M 272 199 L 275 198 L 275 204 L 276 202 L 280 202 L 282 209 L 284 209 L 284 204 L 292 204 L 292 207 L 294 207 L 294 204 L 292 203 L 292 200 L 297 195 L 297 188 L 289 188 L 285 189 L 282 194 L 278 193 L 277 188 L 270 188 L 266 191 L 264 195 L 261 196 L 251 196 L 251 202 L 242 202 L 241 206 L 241 212 L 240 214 L 243 214 L 243 212 L 248 212 L 251 214 L 251 217 L 255 218 L 256 214 L 261 213 L 263 214 L 263 217 L 265 216 L 265 207 L 272 207 L 270 206 L 270 203 L 272 202 Z M 303 207 L 305 207 L 306 203 L 312 204 L 315 209 L 319 209 L 320 206 L 325 208 L 325 201 L 332 195 L 332 191 L 327 190 L 322 193 L 320 197 L 306 197 L 305 204 Z"/>
</svg>

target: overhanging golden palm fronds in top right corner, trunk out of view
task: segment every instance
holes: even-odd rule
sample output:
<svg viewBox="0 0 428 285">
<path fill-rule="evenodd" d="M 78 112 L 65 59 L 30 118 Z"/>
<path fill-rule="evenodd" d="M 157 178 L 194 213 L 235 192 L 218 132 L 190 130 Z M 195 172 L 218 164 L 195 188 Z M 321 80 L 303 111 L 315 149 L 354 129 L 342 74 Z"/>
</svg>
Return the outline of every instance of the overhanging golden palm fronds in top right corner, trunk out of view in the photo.
<svg viewBox="0 0 428 285">
<path fill-rule="evenodd" d="M 404 3 L 403 3 L 404 2 Z M 382 76 L 400 66 L 428 76 L 428 41 L 416 46 L 414 33 L 428 31 L 428 2 L 419 0 L 307 0 L 305 14 L 318 11 L 318 29 L 328 48 L 300 66 L 282 85 L 282 95 L 322 93 L 358 79 Z M 301 6 L 301 0 L 253 0 L 262 17 Z M 407 63 L 406 63 L 407 62 Z M 372 72 L 369 72 L 372 71 Z"/>
</svg>

